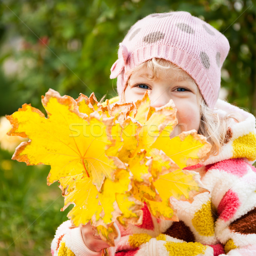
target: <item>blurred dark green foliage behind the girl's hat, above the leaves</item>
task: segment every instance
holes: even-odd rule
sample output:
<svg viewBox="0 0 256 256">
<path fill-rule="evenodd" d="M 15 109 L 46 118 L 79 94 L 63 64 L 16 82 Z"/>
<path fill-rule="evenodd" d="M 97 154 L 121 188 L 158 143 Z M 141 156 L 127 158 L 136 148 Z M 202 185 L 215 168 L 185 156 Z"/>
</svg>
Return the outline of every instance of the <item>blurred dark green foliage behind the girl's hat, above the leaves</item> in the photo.
<svg viewBox="0 0 256 256">
<path fill-rule="evenodd" d="M 138 19 L 171 10 L 189 11 L 227 36 L 222 84 L 230 102 L 255 111 L 256 6 L 250 0 L 6 0 L 0 6 L 0 115 L 24 102 L 40 108 L 49 88 L 73 97 L 115 96 L 109 75 L 119 42 Z"/>
</svg>

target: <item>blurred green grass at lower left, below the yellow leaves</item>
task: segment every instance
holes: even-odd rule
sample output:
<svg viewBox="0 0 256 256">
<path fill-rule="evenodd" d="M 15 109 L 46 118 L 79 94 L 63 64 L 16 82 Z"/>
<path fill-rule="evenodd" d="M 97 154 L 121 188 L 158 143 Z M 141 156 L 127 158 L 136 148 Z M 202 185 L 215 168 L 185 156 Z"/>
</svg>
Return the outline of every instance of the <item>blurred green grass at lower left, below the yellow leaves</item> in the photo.
<svg viewBox="0 0 256 256">
<path fill-rule="evenodd" d="M 49 255 L 56 227 L 67 219 L 60 189 L 46 184 L 49 166 L 26 166 L 0 151 L 0 255 Z"/>
</svg>

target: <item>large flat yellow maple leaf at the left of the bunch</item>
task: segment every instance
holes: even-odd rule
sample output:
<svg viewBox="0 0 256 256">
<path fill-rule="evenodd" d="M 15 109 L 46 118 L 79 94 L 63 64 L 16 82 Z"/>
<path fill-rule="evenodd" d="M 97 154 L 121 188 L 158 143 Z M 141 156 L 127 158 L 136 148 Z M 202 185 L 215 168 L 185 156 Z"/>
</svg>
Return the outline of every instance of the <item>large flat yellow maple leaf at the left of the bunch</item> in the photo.
<svg viewBox="0 0 256 256">
<path fill-rule="evenodd" d="M 117 161 L 105 155 L 112 144 L 107 132 L 108 119 L 84 116 L 73 98 L 61 97 L 54 90 L 49 90 L 42 102 L 48 118 L 30 105 L 23 105 L 9 116 L 14 126 L 10 134 L 30 139 L 16 149 L 13 159 L 28 165 L 51 165 L 49 183 L 69 176 L 70 170 L 75 175 L 91 175 L 100 190 L 105 177 L 113 178 L 119 168 L 115 166 Z"/>
</svg>

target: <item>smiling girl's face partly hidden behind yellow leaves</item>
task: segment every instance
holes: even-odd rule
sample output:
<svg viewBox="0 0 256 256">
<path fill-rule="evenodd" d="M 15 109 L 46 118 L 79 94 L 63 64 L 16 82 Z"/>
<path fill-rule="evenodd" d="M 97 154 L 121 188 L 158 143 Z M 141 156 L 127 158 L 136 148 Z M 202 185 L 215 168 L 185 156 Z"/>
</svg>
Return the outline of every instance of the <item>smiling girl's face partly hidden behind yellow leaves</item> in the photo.
<svg viewBox="0 0 256 256">
<path fill-rule="evenodd" d="M 201 119 L 198 93 L 201 94 L 192 78 L 182 70 L 173 69 L 157 73 L 158 78 L 153 80 L 148 78 L 150 75 L 151 71 L 146 68 L 131 74 L 125 88 L 125 102 L 136 102 L 143 98 L 146 90 L 150 90 L 152 107 L 166 105 L 170 99 L 175 103 L 178 125 L 172 137 L 182 131 L 198 131 Z"/>
</svg>

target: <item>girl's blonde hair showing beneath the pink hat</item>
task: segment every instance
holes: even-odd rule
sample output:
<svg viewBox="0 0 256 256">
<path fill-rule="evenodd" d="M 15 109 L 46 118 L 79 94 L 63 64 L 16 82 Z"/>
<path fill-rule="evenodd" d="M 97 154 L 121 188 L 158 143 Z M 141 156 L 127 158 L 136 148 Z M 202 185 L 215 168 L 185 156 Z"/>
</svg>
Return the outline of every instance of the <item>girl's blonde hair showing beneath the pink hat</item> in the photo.
<svg viewBox="0 0 256 256">
<path fill-rule="evenodd" d="M 151 71 L 148 74 L 147 78 L 150 80 L 154 80 L 158 78 L 158 74 L 161 72 L 163 73 L 165 70 L 176 70 L 181 71 L 180 75 L 187 76 L 188 74 L 178 67 L 177 65 L 173 64 L 170 61 L 166 61 L 165 59 L 161 58 L 152 58 L 148 61 L 143 62 L 142 64 L 138 65 L 134 69 L 128 71 L 126 73 L 129 76 L 129 79 L 125 85 L 127 87 L 131 74 L 141 70 L 142 68 L 146 68 Z M 192 81 L 194 81 L 191 78 Z M 195 82 L 195 81 L 194 81 Z M 196 84 L 196 83 L 195 83 Z M 124 101 L 124 93 L 122 94 L 122 101 Z M 212 149 L 210 151 L 210 155 L 217 155 L 221 150 L 221 147 L 228 143 L 230 140 L 230 131 L 228 129 L 230 116 L 220 116 L 218 113 L 213 111 L 211 108 L 207 106 L 201 93 L 198 93 L 198 104 L 200 105 L 200 126 L 198 129 L 198 134 L 203 135 L 207 138 L 207 141 L 212 145 Z"/>
</svg>

